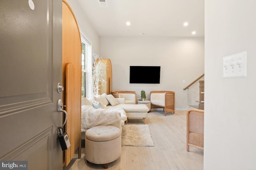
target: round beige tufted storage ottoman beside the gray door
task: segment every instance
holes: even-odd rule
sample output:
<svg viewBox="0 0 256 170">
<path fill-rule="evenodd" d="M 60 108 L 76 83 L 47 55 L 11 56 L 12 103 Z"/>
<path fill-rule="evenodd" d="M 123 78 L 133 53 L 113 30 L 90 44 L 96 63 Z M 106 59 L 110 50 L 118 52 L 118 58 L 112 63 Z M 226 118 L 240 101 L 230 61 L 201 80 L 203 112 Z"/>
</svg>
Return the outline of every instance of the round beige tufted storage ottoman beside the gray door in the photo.
<svg viewBox="0 0 256 170">
<path fill-rule="evenodd" d="M 85 133 L 86 160 L 108 168 L 108 163 L 121 156 L 121 133 L 121 129 L 112 125 L 88 129 Z"/>
</svg>

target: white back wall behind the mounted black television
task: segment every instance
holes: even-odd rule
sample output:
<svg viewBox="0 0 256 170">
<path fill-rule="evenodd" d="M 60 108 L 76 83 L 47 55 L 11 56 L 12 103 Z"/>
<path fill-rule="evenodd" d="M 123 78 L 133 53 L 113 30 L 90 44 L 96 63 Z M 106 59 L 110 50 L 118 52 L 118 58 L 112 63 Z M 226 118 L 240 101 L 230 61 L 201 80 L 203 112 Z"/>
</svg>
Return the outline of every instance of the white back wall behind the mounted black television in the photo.
<svg viewBox="0 0 256 170">
<path fill-rule="evenodd" d="M 170 90 L 175 108 L 187 108 L 188 84 L 204 73 L 204 38 L 100 37 L 100 55 L 112 63 L 112 90 Z M 161 66 L 160 84 L 130 84 L 130 66 Z M 143 76 L 146 73 L 138 73 Z M 186 83 L 182 83 L 186 80 Z M 199 83 L 194 85 L 199 91 Z"/>
</svg>

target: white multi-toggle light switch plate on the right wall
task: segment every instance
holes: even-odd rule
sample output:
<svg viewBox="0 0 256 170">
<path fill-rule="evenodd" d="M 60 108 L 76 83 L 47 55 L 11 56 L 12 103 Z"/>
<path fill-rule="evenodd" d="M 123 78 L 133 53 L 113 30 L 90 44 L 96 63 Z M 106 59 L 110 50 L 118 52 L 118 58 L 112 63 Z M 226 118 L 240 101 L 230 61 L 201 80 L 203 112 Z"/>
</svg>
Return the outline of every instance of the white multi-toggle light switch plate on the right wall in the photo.
<svg viewBox="0 0 256 170">
<path fill-rule="evenodd" d="M 247 53 L 237 53 L 223 57 L 223 77 L 236 78 L 247 76 Z"/>
</svg>

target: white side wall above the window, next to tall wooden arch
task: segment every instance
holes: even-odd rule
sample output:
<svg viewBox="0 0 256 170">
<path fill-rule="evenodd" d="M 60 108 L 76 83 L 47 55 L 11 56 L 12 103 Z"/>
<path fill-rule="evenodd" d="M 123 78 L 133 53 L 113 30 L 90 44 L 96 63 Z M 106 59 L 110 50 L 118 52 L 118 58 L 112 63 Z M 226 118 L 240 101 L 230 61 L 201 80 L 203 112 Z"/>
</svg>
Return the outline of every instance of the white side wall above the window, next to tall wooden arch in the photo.
<svg viewBox="0 0 256 170">
<path fill-rule="evenodd" d="M 87 19 L 79 2 L 77 0 L 66 1 L 70 5 L 72 11 L 74 12 L 74 15 L 76 16 L 80 31 L 86 36 L 86 38 L 88 38 L 90 43 L 92 43 L 93 52 L 98 54 L 100 52 L 100 38 L 98 36 L 98 33 L 94 30 L 90 21 Z"/>
</svg>

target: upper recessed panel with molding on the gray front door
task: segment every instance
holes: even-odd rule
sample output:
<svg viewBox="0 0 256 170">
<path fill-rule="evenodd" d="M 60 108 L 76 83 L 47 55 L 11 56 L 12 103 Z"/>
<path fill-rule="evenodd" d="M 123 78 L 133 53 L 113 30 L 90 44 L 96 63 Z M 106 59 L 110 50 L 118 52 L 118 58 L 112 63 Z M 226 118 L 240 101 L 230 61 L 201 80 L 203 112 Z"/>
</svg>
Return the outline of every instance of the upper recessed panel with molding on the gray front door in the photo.
<svg viewBox="0 0 256 170">
<path fill-rule="evenodd" d="M 34 11 L 28 9 L 27 3 L 16 1 L 13 1 L 12 3 L 3 3 L 4 4 L 2 5 L 5 6 L 5 8 L 1 9 L 1 12 L 6 14 L 6 16 L 14 18 L 10 18 L 12 20 L 4 20 L 3 24 L 12 25 L 12 27 L 8 29 L 4 29 L 4 27 L 0 28 L 0 32 L 4 32 L 1 39 L 8 39 L 8 41 L 1 44 L 1 48 L 9 51 L 8 54 L 6 53 L 1 56 L 3 57 L 3 61 L 5 61 L 2 64 L 7 65 L 8 67 L 4 65 L 1 66 L 0 63 L 0 72 L 8 72 L 9 75 L 3 75 L 4 81 L 0 82 L 0 117 L 20 113 L 25 109 L 33 109 L 52 103 L 54 89 L 52 86 L 54 82 L 53 0 L 34 2 L 36 7 L 40 6 L 40 8 L 42 8 L 41 10 L 46 11 L 47 15 L 45 18 L 40 17 L 39 8 Z M 19 5 L 14 6 L 13 3 L 19 3 Z M 14 8 L 12 12 L 16 13 L 16 15 L 8 15 L 8 10 L 11 8 Z M 26 9 L 26 12 L 24 12 L 22 8 Z M 24 16 L 20 15 L 20 13 Z M 20 20 L 17 20 L 19 18 L 16 16 L 24 17 L 26 18 L 26 21 L 20 22 Z M 0 19 L 1 18 L 2 16 L 0 16 Z M 30 22 L 28 20 L 30 20 Z M 40 26 L 35 24 L 38 22 L 41 22 L 42 24 L 40 24 Z M 17 25 L 19 29 L 17 29 Z M 45 27 L 42 25 L 45 25 Z M 25 34 L 21 30 L 30 30 L 31 32 Z M 38 32 L 40 33 L 38 34 Z M 35 35 L 37 35 L 37 38 L 35 38 Z M 22 46 L 24 46 L 23 48 L 16 49 L 16 46 L 13 46 L 12 42 L 19 42 L 20 39 L 26 43 L 22 44 Z M 38 40 L 40 40 L 42 48 L 36 46 L 38 45 Z M 30 53 L 28 53 L 28 51 L 30 51 Z M 22 58 L 22 55 L 29 55 L 29 57 Z M 19 57 L 17 58 L 17 56 Z M 38 79 L 38 77 L 42 79 Z M 31 82 L 30 80 L 34 81 Z"/>
</svg>

